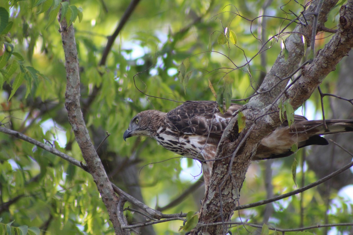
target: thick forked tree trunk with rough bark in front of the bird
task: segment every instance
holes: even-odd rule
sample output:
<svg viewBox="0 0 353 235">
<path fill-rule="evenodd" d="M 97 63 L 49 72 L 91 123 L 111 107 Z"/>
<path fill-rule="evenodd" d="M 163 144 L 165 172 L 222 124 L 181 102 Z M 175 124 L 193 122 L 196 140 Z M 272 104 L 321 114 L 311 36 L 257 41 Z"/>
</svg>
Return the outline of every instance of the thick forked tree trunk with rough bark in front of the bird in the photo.
<svg viewBox="0 0 353 235">
<path fill-rule="evenodd" d="M 304 14 L 315 12 L 318 2 L 313 1 Z M 336 3 L 337 1 L 334 0 L 323 2 L 318 25 L 323 25 Z M 302 68 L 301 77 L 285 92 L 287 81 L 274 85 L 279 78 L 285 78 L 298 68 L 304 54 L 301 36 L 304 35 L 307 40 L 310 39 L 313 15 L 309 14 L 306 17 L 309 25 L 299 25 L 294 30 L 296 33 L 288 37 L 286 40 L 288 59 L 285 60 L 281 55 L 277 58 L 258 90 L 261 92 L 270 89 L 270 92 L 253 97 L 243 107 L 246 128 L 238 134 L 236 116 L 223 133 L 216 156 L 219 160 L 214 162 L 211 183 L 199 215 L 199 223 L 208 225 L 195 228 L 191 234 L 226 234 L 226 225 L 211 224 L 227 222 L 233 215 L 252 155 L 262 138 L 280 125 L 279 114 L 276 112 L 279 100 L 289 99 L 294 109 L 298 108 L 353 47 L 352 1 L 348 1 L 341 8 L 340 16 L 339 29 L 331 41 L 317 53 L 311 63 Z"/>
</svg>

